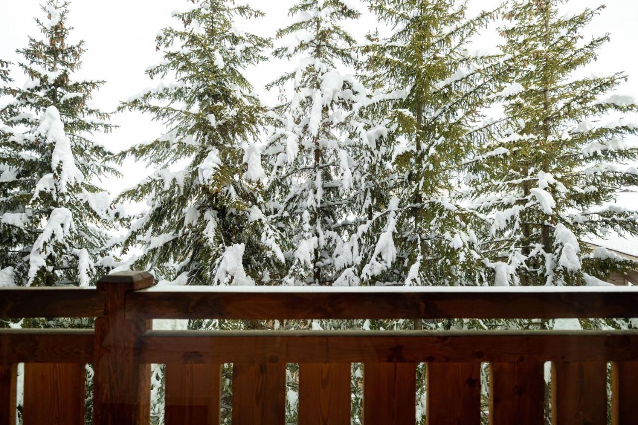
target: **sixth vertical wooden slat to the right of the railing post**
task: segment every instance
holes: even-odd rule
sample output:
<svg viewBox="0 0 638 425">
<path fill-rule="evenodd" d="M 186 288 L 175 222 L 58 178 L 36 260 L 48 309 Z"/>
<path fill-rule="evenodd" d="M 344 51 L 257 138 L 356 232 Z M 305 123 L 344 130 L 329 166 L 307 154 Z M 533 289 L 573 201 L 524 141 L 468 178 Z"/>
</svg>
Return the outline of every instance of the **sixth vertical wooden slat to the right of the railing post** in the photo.
<svg viewBox="0 0 638 425">
<path fill-rule="evenodd" d="M 491 425 L 544 425 L 545 378 L 542 362 L 489 365 Z"/>
</svg>

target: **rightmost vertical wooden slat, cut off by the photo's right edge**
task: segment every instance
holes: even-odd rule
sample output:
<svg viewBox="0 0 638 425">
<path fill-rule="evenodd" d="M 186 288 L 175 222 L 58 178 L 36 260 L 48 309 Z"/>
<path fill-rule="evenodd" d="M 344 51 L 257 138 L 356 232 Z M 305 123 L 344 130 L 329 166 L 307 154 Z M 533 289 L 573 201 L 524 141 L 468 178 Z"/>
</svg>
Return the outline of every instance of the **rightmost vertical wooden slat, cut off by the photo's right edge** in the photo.
<svg viewBox="0 0 638 425">
<path fill-rule="evenodd" d="M 638 420 L 638 361 L 611 364 L 612 424 L 630 425 Z"/>
</svg>

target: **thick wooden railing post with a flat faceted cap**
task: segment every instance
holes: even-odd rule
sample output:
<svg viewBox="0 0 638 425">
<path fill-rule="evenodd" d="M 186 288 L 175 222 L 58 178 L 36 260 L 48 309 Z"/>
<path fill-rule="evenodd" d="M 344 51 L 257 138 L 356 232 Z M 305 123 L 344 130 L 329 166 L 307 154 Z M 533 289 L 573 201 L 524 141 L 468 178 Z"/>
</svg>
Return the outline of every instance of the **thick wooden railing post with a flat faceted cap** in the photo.
<svg viewBox="0 0 638 425">
<path fill-rule="evenodd" d="M 126 293 L 151 287 L 148 272 L 119 272 L 98 281 L 105 293 L 103 317 L 95 321 L 93 389 L 94 425 L 148 425 L 151 365 L 142 364 L 138 338 L 151 320 L 125 317 Z"/>
</svg>

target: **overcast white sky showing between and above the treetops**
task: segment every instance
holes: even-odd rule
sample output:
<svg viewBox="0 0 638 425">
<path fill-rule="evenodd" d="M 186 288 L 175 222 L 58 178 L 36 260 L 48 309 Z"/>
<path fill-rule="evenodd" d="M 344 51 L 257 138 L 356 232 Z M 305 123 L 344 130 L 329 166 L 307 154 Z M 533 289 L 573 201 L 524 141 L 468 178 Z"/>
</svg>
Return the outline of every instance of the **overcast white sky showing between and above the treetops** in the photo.
<svg viewBox="0 0 638 425">
<path fill-rule="evenodd" d="M 362 4 L 360 0 L 352 0 Z M 15 49 L 26 46 L 27 35 L 39 37 L 33 21 L 35 15 L 42 17 L 38 0 L 0 0 L 0 59 L 19 61 Z M 273 36 L 276 29 L 288 24 L 287 10 L 295 0 L 244 0 L 267 13 L 267 17 L 253 20 L 249 30 L 263 35 Z M 471 13 L 480 8 L 489 8 L 500 0 L 470 0 Z M 154 38 L 158 30 L 177 24 L 171 17 L 175 9 L 187 8 L 188 0 L 73 0 L 69 23 L 75 27 L 71 41 L 83 39 L 88 49 L 84 55 L 84 67 L 78 77 L 106 80 L 106 86 L 95 94 L 93 102 L 103 110 L 115 110 L 119 101 L 139 93 L 146 87 L 156 86 L 146 77 L 144 71 L 161 59 L 156 52 Z M 572 0 L 565 6 L 567 10 L 579 11 L 586 6 L 594 7 L 600 0 Z M 588 28 L 589 34 L 611 33 L 611 43 L 600 52 L 597 63 L 587 70 L 591 73 L 611 73 L 627 71 L 630 80 L 622 87 L 622 92 L 638 97 L 638 1 L 609 0 L 607 9 Z M 373 16 L 366 7 L 360 10 L 364 16 L 357 24 L 348 26 L 353 35 L 360 38 L 368 29 L 376 26 Z M 242 26 L 240 23 L 239 26 Z M 490 47 L 496 38 L 487 34 L 481 41 L 481 47 Z M 267 93 L 263 86 L 276 78 L 282 70 L 289 70 L 293 64 L 272 62 L 248 70 L 256 89 L 263 95 L 266 103 L 272 103 L 276 93 Z M 17 73 L 13 77 L 19 84 L 25 80 Z M 151 140 L 159 135 L 162 128 L 153 124 L 150 118 L 140 114 L 117 114 L 114 123 L 121 128 L 109 135 L 96 135 L 96 140 L 112 151 L 118 151 L 131 144 Z M 105 182 L 107 189 L 117 193 L 130 187 L 144 177 L 144 166 L 126 163 L 123 167 L 124 179 Z"/>
</svg>

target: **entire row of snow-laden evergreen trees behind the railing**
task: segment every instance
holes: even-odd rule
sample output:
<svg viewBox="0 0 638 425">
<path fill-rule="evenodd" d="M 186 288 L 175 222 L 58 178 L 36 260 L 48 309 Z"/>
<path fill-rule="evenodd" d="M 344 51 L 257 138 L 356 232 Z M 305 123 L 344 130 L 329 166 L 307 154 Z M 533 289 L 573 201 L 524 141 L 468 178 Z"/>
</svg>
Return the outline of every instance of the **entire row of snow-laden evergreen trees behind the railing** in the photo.
<svg viewBox="0 0 638 425">
<path fill-rule="evenodd" d="M 635 269 L 588 241 L 638 235 L 612 204 L 638 184 L 638 107 L 624 73 L 581 77 L 609 40 L 582 35 L 602 7 L 563 3 L 298 0 L 269 51 L 237 25 L 262 11 L 189 1 L 156 38 L 156 86 L 120 108 L 165 131 L 110 156 L 90 140 L 112 128 L 89 103 L 103 82 L 73 80 L 84 47 L 50 0 L 44 40 L 0 61 L 0 284 L 88 285 L 120 251 L 163 285 L 602 285 Z M 378 18 L 365 40 L 362 6 Z M 497 26 L 503 45 L 473 50 Z M 246 75 L 270 57 L 290 68 L 268 108 Z M 151 175 L 96 186 L 127 158 Z"/>
</svg>

